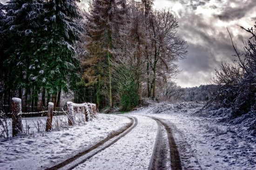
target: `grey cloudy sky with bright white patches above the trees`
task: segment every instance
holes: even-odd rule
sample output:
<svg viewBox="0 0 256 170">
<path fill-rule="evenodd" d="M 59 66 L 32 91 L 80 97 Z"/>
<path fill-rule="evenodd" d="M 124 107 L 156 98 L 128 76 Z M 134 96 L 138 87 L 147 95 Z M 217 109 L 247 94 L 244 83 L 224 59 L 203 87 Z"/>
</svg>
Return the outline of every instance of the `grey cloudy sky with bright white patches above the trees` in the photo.
<svg viewBox="0 0 256 170">
<path fill-rule="evenodd" d="M 88 1 L 81 0 L 81 8 Z M 227 28 L 243 47 L 248 34 L 237 25 L 250 28 L 256 21 L 256 0 L 155 0 L 155 8 L 173 12 L 178 34 L 189 45 L 187 58 L 178 63 L 182 72 L 175 82 L 182 87 L 210 84 L 222 61 L 236 59 Z"/>
</svg>

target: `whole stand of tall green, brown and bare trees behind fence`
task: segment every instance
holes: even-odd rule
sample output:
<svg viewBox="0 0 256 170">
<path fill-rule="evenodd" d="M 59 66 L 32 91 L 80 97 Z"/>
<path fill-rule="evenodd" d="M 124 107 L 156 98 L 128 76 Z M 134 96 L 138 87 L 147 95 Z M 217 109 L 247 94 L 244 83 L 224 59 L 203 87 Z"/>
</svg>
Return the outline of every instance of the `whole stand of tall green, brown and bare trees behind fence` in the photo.
<svg viewBox="0 0 256 170">
<path fill-rule="evenodd" d="M 154 0 L 10 0 L 1 4 L 1 102 L 75 102 L 130 110 L 179 72 L 185 41 L 178 22 Z"/>
</svg>

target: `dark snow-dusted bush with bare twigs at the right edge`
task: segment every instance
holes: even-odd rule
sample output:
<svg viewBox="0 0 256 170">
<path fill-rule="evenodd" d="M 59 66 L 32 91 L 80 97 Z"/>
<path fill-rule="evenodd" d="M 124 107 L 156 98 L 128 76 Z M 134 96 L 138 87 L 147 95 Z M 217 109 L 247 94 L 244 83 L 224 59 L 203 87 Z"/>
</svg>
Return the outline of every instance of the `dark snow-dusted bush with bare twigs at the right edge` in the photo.
<svg viewBox="0 0 256 170">
<path fill-rule="evenodd" d="M 243 52 L 238 52 L 232 41 L 237 62 L 235 65 L 222 63 L 220 70 L 216 71 L 216 101 L 220 107 L 231 108 L 229 118 L 234 123 L 250 122 L 250 128 L 255 129 L 256 121 L 253 120 L 256 118 L 256 25 L 251 29 L 242 26 L 241 28 L 249 32 L 251 37 L 247 44 L 244 43 Z"/>
</svg>

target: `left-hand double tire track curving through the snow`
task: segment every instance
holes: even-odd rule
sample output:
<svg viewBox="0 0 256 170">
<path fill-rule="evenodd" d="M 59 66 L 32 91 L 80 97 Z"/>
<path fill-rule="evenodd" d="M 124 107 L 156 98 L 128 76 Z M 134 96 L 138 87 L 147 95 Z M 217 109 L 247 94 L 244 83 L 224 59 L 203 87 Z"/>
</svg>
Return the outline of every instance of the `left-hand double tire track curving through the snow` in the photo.
<svg viewBox="0 0 256 170">
<path fill-rule="evenodd" d="M 77 165 L 84 163 L 90 157 L 93 157 L 100 151 L 103 151 L 104 149 L 108 148 L 110 145 L 113 145 L 116 141 L 121 139 L 133 128 L 135 128 L 135 126 L 137 126 L 138 124 L 138 120 L 134 116 L 125 116 L 125 117 L 128 117 L 131 120 L 131 122 L 127 126 L 121 128 L 119 131 L 116 131 L 110 134 L 106 139 L 103 139 L 102 141 L 92 146 L 91 148 L 78 153 L 74 157 L 71 157 L 63 161 L 60 164 L 47 168 L 46 170 L 72 170 Z"/>
</svg>

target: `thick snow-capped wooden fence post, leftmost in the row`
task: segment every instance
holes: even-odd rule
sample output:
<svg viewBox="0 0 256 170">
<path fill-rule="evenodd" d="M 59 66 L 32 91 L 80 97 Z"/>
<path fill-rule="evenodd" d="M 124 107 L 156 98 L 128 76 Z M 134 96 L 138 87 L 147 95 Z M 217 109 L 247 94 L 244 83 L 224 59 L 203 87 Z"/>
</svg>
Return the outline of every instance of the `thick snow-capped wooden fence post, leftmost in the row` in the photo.
<svg viewBox="0 0 256 170">
<path fill-rule="evenodd" d="M 12 98 L 12 110 L 13 110 L 13 137 L 17 134 L 21 134 L 22 131 L 22 120 L 21 120 L 21 99 L 20 98 Z"/>
</svg>

